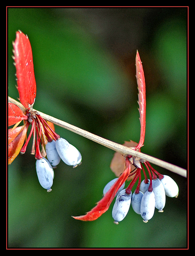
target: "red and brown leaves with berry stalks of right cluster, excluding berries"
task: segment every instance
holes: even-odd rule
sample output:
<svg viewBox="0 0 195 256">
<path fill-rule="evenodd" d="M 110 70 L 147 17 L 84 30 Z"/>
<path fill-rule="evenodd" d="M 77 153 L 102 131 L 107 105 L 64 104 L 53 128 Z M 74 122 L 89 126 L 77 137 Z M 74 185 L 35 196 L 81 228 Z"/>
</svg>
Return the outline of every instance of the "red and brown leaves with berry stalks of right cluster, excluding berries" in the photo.
<svg viewBox="0 0 195 256">
<path fill-rule="evenodd" d="M 146 114 L 146 100 L 145 100 L 145 77 L 144 71 L 142 67 L 142 62 L 139 57 L 139 53 L 136 53 L 136 79 L 138 85 L 138 104 L 139 104 L 139 119 L 141 124 L 141 133 L 139 143 L 130 141 L 125 142 L 124 145 L 131 147 L 131 149 L 135 151 L 140 151 L 140 148 L 143 146 L 144 139 L 145 139 L 145 114 Z M 125 162 L 124 162 L 125 159 Z M 116 152 L 114 154 L 114 158 L 111 162 L 111 169 L 114 173 L 119 176 L 117 181 L 111 186 L 109 191 L 106 195 L 101 199 L 95 208 L 90 210 L 86 215 L 73 217 L 74 219 L 83 220 L 83 221 L 92 221 L 100 217 L 106 210 L 109 209 L 109 206 L 114 199 L 117 191 L 121 187 L 121 185 L 128 179 L 132 179 L 131 183 L 129 184 L 128 188 L 126 188 L 125 192 L 127 194 L 131 193 L 131 189 L 133 188 L 137 179 L 139 179 L 137 188 L 135 190 L 136 193 L 139 193 L 139 186 L 141 183 L 141 170 L 144 172 L 145 175 L 145 183 L 148 183 L 148 178 L 145 174 L 145 170 L 142 166 L 142 163 L 145 164 L 149 176 L 150 176 L 150 185 L 148 191 L 152 191 L 152 179 L 157 178 L 156 175 L 159 176 L 159 179 L 163 178 L 162 174 L 159 174 L 156 170 L 154 170 L 149 162 L 145 162 L 145 160 L 140 159 L 135 156 L 124 155 L 122 156 L 120 153 Z M 125 168 L 124 168 L 125 165 Z M 134 166 L 134 170 L 131 170 L 132 166 Z M 125 170 L 125 171 L 124 171 Z M 150 171 L 151 170 L 151 171 Z M 152 173 L 152 174 L 151 174 Z"/>
</svg>

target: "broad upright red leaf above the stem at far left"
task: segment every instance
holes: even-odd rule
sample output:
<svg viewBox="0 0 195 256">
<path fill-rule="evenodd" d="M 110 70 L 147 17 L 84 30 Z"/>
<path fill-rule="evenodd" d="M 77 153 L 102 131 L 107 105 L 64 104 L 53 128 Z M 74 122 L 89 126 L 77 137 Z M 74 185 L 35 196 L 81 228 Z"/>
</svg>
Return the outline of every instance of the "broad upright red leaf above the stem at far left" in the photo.
<svg viewBox="0 0 195 256">
<path fill-rule="evenodd" d="M 16 32 L 14 61 L 16 65 L 17 89 L 20 102 L 28 109 L 33 108 L 36 97 L 36 81 L 34 77 L 33 54 L 28 37 L 21 31 Z"/>
</svg>

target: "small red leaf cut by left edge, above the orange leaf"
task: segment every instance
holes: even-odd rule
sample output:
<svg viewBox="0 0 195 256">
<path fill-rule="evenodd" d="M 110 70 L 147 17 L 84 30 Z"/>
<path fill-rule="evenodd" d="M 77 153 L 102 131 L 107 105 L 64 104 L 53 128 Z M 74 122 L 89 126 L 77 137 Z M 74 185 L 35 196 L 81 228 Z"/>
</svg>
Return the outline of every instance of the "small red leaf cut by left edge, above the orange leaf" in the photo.
<svg viewBox="0 0 195 256">
<path fill-rule="evenodd" d="M 17 105 L 8 103 L 8 126 L 15 125 L 22 120 L 28 120 L 28 117 Z"/>
</svg>

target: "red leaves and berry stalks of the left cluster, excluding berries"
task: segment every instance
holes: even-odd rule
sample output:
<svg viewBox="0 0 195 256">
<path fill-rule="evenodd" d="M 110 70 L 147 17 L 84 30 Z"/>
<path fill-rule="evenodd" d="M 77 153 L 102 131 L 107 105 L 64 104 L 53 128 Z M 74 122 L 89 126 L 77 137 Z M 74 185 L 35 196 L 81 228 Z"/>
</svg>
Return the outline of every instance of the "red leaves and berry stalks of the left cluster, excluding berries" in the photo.
<svg viewBox="0 0 195 256">
<path fill-rule="evenodd" d="M 13 103 L 8 103 L 8 126 L 14 125 L 8 130 L 8 164 L 14 161 L 16 156 L 24 154 L 28 142 L 33 134 L 33 146 L 31 154 L 35 154 L 36 159 L 46 156 L 44 145 L 47 141 L 56 140 L 60 136 L 56 134 L 47 122 L 33 111 L 33 104 L 36 97 L 36 82 L 33 68 L 33 55 L 28 36 L 21 31 L 16 32 L 14 46 L 14 65 L 16 66 L 17 89 L 20 102 L 25 107 L 25 113 Z M 24 125 L 17 127 L 21 121 Z M 24 144 L 29 125 L 32 125 L 28 139 Z M 39 149 L 42 147 L 42 153 Z M 23 147 L 22 147 L 23 146 Z"/>
</svg>

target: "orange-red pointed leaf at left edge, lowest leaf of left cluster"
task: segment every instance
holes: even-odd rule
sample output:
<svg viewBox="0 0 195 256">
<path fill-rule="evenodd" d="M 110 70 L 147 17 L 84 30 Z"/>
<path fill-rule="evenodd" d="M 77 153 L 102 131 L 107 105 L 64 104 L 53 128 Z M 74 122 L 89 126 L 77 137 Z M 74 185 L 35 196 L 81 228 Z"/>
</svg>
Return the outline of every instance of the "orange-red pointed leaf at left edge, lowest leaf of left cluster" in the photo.
<svg viewBox="0 0 195 256">
<path fill-rule="evenodd" d="M 12 129 L 8 130 L 8 164 L 10 165 L 11 162 L 17 157 L 20 153 L 20 149 L 24 144 L 26 133 L 28 130 L 29 122 L 25 125 L 19 126 L 15 128 L 13 131 Z"/>
</svg>

